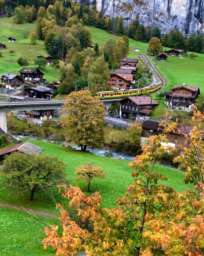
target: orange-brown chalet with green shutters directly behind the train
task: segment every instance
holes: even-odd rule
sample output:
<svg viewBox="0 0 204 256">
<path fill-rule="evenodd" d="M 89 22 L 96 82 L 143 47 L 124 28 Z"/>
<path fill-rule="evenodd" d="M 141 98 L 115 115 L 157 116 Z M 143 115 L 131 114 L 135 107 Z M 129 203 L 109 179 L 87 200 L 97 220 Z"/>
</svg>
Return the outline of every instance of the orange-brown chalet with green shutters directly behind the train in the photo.
<svg viewBox="0 0 204 256">
<path fill-rule="evenodd" d="M 129 89 L 131 82 L 124 78 L 125 75 L 111 73 L 111 78 L 109 79 L 109 86 L 117 90 Z M 132 76 L 132 75 L 131 75 Z"/>
</svg>

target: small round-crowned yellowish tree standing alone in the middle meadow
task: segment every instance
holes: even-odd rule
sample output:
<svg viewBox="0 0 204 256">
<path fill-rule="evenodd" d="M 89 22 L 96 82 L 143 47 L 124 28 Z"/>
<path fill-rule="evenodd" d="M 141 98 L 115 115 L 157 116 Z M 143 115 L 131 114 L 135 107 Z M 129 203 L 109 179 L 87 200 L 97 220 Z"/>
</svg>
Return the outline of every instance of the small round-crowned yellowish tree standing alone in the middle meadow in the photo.
<svg viewBox="0 0 204 256">
<path fill-rule="evenodd" d="M 105 173 L 101 167 L 94 167 L 93 164 L 80 165 L 75 169 L 76 179 L 88 183 L 87 191 L 90 192 L 92 179 L 104 179 Z"/>
</svg>

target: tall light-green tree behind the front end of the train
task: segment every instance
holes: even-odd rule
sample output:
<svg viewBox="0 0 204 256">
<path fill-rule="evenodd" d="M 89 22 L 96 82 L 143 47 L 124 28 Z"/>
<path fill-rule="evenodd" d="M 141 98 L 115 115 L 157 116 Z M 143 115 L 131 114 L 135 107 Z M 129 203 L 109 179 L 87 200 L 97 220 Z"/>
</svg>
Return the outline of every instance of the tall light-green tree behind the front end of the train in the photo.
<svg viewBox="0 0 204 256">
<path fill-rule="evenodd" d="M 90 90 L 94 94 L 97 91 L 109 90 L 108 79 L 110 77 L 108 64 L 103 56 L 96 59 L 90 67 L 89 80 Z"/>
</svg>

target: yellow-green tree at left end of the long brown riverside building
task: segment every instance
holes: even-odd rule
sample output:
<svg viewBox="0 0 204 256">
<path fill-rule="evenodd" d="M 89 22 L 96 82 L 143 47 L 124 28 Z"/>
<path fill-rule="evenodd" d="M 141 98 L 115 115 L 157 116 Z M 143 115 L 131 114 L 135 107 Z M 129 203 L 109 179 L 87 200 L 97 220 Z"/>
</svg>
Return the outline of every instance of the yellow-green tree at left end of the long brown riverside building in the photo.
<svg viewBox="0 0 204 256">
<path fill-rule="evenodd" d="M 135 122 L 127 129 L 126 139 L 134 146 L 140 146 L 142 133 L 142 125 L 140 122 Z"/>
</svg>

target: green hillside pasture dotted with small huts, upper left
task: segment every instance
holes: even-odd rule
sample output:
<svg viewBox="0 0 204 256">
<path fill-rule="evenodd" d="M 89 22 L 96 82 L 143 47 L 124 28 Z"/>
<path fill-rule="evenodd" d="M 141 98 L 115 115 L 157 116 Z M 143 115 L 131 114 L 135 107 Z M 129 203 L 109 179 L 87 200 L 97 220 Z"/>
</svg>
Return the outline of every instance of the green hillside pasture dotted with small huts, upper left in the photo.
<svg viewBox="0 0 204 256">
<path fill-rule="evenodd" d="M 20 28 L 17 29 L 9 26 L 3 26 L 1 25 L 1 21 L 0 31 L 0 42 L 6 45 L 6 49 L 1 50 L 3 57 L 0 58 L 0 75 L 7 73 L 7 71 L 10 71 L 10 73 L 18 73 L 22 66 L 18 65 L 16 60 L 20 57 L 27 59 L 28 62 L 31 63 L 31 65 L 29 65 L 30 67 L 35 67 L 35 65 L 32 64 L 38 55 L 48 55 L 42 40 L 37 40 L 36 45 L 32 45 L 29 42 L 28 38 L 30 31 Z M 16 42 L 8 42 L 9 36 L 16 38 Z M 14 50 L 15 53 L 11 55 L 9 53 L 10 50 Z M 14 60 L 15 62 L 7 60 Z M 56 67 L 46 65 L 45 68 L 41 68 L 41 71 L 45 74 L 44 78 L 48 83 L 51 83 L 54 80 L 58 81 L 58 73 Z"/>
</svg>

